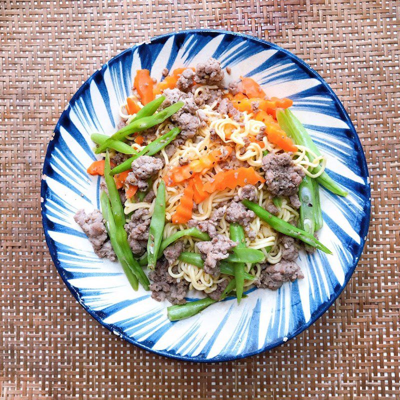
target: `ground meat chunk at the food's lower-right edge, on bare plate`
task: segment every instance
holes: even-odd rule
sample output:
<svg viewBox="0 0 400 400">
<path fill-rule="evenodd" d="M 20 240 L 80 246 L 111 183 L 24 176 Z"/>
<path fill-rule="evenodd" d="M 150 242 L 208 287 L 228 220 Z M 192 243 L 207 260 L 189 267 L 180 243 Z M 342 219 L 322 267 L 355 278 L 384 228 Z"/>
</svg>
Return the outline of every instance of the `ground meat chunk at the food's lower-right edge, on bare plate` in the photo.
<svg viewBox="0 0 400 400">
<path fill-rule="evenodd" d="M 304 275 L 300 267 L 294 261 L 282 259 L 278 263 L 271 265 L 268 263 L 261 265 L 261 274 L 254 282 L 257 287 L 267 287 L 268 289 L 276 290 L 284 282 L 302 279 Z"/>
</svg>

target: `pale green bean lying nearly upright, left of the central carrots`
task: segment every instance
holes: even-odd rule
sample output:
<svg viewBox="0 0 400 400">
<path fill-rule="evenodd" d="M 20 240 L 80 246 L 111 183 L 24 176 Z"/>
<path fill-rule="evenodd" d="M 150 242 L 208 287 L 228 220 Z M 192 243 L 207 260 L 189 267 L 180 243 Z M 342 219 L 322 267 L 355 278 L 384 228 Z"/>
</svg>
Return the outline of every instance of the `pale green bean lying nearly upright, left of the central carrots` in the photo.
<svg viewBox="0 0 400 400">
<path fill-rule="evenodd" d="M 154 269 L 165 225 L 165 182 L 161 180 L 155 197 L 147 241 L 147 266 Z"/>
</svg>

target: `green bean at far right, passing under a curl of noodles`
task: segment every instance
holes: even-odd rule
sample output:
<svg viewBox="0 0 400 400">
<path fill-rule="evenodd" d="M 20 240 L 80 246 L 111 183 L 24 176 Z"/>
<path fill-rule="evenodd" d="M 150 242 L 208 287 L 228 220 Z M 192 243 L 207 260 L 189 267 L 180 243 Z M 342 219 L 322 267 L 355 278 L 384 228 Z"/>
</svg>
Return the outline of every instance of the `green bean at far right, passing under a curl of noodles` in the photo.
<svg viewBox="0 0 400 400">
<path fill-rule="evenodd" d="M 295 144 L 308 147 L 317 156 L 321 155 L 302 123 L 288 108 L 285 110 L 278 110 L 276 112 L 276 118 L 280 127 L 294 140 Z M 307 153 L 307 156 L 310 161 L 314 159 L 314 157 L 312 157 L 309 153 Z M 312 170 L 312 172 L 316 173 L 320 169 L 321 166 L 318 165 Z M 347 192 L 343 190 L 326 172 L 322 172 L 315 179 L 319 184 L 330 190 L 332 193 L 338 194 L 339 196 L 347 195 Z"/>
</svg>

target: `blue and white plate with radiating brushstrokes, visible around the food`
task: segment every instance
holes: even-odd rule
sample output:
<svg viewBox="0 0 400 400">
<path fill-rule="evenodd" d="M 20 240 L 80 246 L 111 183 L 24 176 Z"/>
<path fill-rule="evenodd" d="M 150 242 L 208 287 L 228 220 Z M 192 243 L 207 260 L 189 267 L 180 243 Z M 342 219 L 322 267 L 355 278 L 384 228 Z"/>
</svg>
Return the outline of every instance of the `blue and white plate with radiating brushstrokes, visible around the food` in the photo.
<svg viewBox="0 0 400 400">
<path fill-rule="evenodd" d="M 131 94 L 136 69 L 161 78 L 208 57 L 231 67 L 230 79 L 253 77 L 269 96 L 289 97 L 322 153 L 328 173 L 349 192 L 321 188 L 320 240 L 333 255 L 300 254 L 304 279 L 279 290 L 250 289 L 177 322 L 167 301 L 133 291 L 117 262 L 98 258 L 73 220 L 79 208 L 99 207 L 99 179 L 88 176 L 95 160 L 92 132 L 110 134 L 118 105 Z M 326 82 L 288 51 L 242 34 L 191 30 L 166 34 L 129 48 L 98 69 L 73 95 L 47 148 L 41 182 L 42 217 L 51 257 L 82 307 L 123 339 L 172 358 L 227 361 L 272 348 L 313 323 L 339 295 L 360 257 L 369 223 L 370 190 L 365 157 L 351 121 Z"/>
</svg>

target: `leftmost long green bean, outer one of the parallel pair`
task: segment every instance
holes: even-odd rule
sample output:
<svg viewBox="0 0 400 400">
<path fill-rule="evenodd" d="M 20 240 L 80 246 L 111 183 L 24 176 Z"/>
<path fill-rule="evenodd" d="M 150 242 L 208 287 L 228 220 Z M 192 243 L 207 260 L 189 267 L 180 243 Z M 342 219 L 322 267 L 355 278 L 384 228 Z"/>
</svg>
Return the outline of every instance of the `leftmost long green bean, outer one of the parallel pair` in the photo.
<svg viewBox="0 0 400 400">
<path fill-rule="evenodd" d="M 137 290 L 138 288 L 137 277 L 130 270 L 128 262 L 125 256 L 123 255 L 123 251 L 116 240 L 115 219 L 114 216 L 112 215 L 111 203 L 109 202 L 109 198 L 105 193 L 105 191 L 101 192 L 100 203 L 101 203 L 101 213 L 103 214 L 103 218 L 105 220 L 105 228 L 107 229 L 107 233 L 111 241 L 112 248 L 115 251 L 116 257 L 118 258 L 119 262 L 122 265 L 123 272 L 125 272 L 125 275 L 130 285 L 132 286 L 133 290 Z"/>
</svg>

